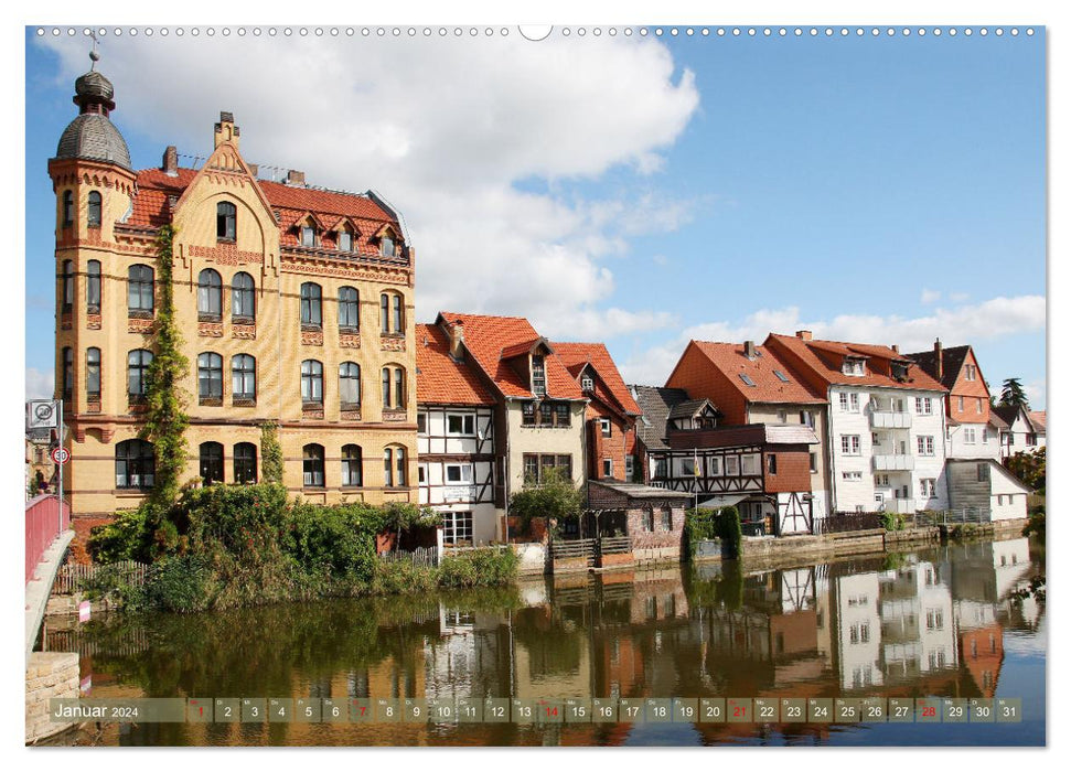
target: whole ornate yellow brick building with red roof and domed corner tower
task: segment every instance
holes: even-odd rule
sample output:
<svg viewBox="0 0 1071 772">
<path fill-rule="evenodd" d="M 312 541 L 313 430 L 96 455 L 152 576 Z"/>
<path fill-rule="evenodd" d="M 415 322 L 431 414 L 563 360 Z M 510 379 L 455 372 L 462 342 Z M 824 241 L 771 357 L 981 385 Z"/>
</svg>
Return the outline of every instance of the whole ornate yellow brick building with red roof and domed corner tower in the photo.
<svg viewBox="0 0 1071 772">
<path fill-rule="evenodd" d="M 157 236 L 172 225 L 174 319 L 190 366 L 186 480 L 253 482 L 275 423 L 283 484 L 307 501 L 416 502 L 415 250 L 368 192 L 258 179 L 228 112 L 197 168 L 173 147 L 135 171 L 111 83 L 75 83 L 49 161 L 56 196 L 56 398 L 76 514 L 136 506 L 154 353 Z"/>
</svg>

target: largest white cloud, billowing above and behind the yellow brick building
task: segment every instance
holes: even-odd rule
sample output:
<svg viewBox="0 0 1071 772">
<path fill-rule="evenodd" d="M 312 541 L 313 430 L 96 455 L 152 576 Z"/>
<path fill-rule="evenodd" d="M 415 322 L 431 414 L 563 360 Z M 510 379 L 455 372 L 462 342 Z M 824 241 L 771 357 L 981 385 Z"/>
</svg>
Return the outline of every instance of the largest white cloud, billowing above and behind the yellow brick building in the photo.
<svg viewBox="0 0 1071 772">
<path fill-rule="evenodd" d="M 69 87 L 86 69 L 84 41 L 44 44 Z M 173 143 L 205 156 L 231 110 L 249 161 L 301 169 L 310 184 L 373 187 L 396 205 L 417 249 L 421 319 L 508 313 L 600 339 L 667 323 L 606 310 L 614 282 L 603 265 L 631 237 L 686 224 L 696 205 L 653 176 L 699 103 L 693 73 L 658 41 L 170 36 L 101 47 L 116 122 L 161 153 Z M 560 192 L 563 180 L 612 168 L 633 178 L 617 199 Z M 518 186 L 532 179 L 546 192 Z M 623 326 L 595 326 L 610 319 Z"/>
</svg>

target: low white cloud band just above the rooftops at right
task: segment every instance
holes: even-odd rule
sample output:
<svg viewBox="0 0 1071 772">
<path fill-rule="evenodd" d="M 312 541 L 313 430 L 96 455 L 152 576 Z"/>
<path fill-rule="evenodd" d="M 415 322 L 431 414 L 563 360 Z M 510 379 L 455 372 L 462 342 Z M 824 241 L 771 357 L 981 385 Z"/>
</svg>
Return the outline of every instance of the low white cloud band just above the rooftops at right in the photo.
<svg viewBox="0 0 1071 772">
<path fill-rule="evenodd" d="M 993 298 L 955 309 L 935 309 L 932 314 L 915 318 L 842 314 L 829 320 L 804 321 L 796 307 L 762 309 L 737 322 L 716 321 L 689 326 L 676 340 L 633 355 L 619 366 L 628 383 L 663 384 L 690 340 L 732 343 L 752 340 L 761 343 L 771 332 L 791 335 L 797 330 L 810 330 L 816 339 L 897 344 L 904 353 L 925 351 L 936 337 L 950 346 L 1043 331 L 1045 308 L 1043 296 L 1028 294 Z M 1039 385 L 1031 386 L 1037 388 Z"/>
</svg>

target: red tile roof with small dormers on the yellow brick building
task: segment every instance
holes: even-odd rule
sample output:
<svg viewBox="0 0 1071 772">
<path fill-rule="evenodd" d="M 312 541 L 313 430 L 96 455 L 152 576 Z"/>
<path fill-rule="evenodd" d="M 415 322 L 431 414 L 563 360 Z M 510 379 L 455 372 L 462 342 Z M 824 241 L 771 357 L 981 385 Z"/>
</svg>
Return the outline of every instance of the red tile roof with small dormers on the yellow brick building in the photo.
<svg viewBox="0 0 1071 772">
<path fill-rule="evenodd" d="M 179 169 L 175 176 L 161 169 L 139 171 L 138 193 L 127 224 L 156 228 L 171 222 L 168 197 L 181 196 L 196 174 L 195 169 Z M 257 180 L 257 184 L 279 216 L 279 240 L 282 246 L 299 246 L 299 235 L 293 226 L 309 213 L 314 214 L 329 228 L 333 228 L 342 218 L 349 218 L 357 230 L 355 251 L 361 255 L 379 254 L 379 244 L 374 237 L 384 225 L 393 225 L 400 232 L 397 221 L 365 195 L 298 187 L 267 180 Z M 322 236 L 325 248 L 335 247 L 331 232 Z"/>
</svg>

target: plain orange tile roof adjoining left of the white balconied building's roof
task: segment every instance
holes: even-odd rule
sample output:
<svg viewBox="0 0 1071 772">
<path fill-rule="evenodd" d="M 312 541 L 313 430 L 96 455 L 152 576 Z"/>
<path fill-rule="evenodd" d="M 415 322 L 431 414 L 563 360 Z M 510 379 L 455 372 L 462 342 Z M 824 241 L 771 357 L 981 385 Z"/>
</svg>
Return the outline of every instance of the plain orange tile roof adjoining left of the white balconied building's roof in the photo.
<svg viewBox="0 0 1071 772">
<path fill-rule="evenodd" d="M 757 345 L 756 357 L 749 360 L 742 343 L 692 341 L 692 344 L 726 375 L 732 388 L 749 403 L 817 405 L 826 401 L 825 395 L 816 394 L 806 383 L 801 382 L 788 363 L 767 346 Z M 789 380 L 779 378 L 774 371 Z M 748 376 L 754 386 L 745 383 L 741 375 Z"/>
</svg>

